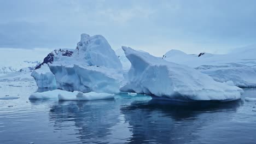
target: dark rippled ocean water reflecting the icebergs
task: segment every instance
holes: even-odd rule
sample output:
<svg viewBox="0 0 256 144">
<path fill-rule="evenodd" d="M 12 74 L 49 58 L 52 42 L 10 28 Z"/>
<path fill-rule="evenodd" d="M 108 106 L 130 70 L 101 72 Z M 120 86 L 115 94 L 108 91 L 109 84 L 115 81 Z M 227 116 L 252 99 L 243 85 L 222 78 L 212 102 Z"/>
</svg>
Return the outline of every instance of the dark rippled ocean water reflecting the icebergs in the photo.
<svg viewBox="0 0 256 144">
<path fill-rule="evenodd" d="M 229 103 L 147 95 L 95 101 L 28 100 L 33 80 L 0 81 L 0 143 L 256 143 L 256 89 Z"/>
</svg>

